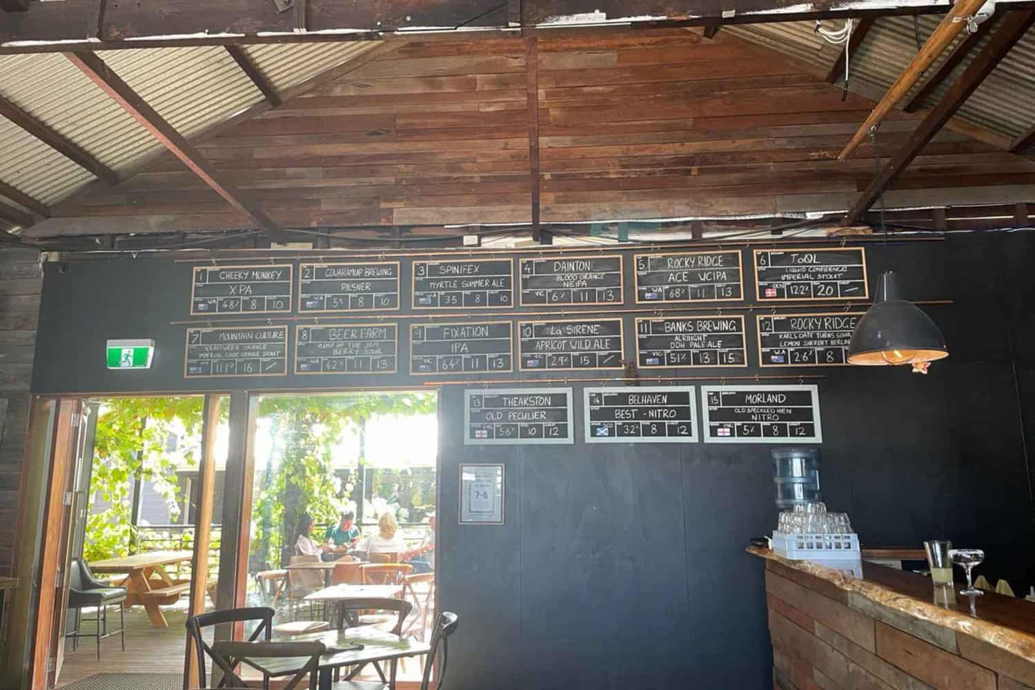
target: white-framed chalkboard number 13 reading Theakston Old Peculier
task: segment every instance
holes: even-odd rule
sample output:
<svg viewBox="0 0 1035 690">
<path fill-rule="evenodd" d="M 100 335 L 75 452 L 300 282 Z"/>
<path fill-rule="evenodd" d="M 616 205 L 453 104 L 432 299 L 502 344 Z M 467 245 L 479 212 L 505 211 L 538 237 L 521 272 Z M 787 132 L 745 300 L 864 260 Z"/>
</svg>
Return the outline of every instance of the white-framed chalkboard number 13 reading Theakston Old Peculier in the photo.
<svg viewBox="0 0 1035 690">
<path fill-rule="evenodd" d="M 464 391 L 464 443 L 574 443 L 570 388 Z"/>
</svg>

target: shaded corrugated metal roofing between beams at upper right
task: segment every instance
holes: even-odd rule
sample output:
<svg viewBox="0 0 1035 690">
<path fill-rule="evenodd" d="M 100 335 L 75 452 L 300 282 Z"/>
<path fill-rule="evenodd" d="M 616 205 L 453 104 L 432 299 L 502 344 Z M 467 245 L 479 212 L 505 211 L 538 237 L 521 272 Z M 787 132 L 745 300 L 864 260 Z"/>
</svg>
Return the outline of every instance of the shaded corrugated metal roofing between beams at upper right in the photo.
<svg viewBox="0 0 1035 690">
<path fill-rule="evenodd" d="M 850 61 L 849 90 L 859 90 L 864 95 L 870 95 L 874 90 L 887 91 L 916 55 L 917 43 L 922 46 L 941 21 L 939 14 L 882 17 L 876 20 Z M 723 31 L 729 30 L 746 40 L 827 69 L 836 58 L 837 50 L 825 43 L 815 33 L 814 26 L 811 22 L 789 22 L 731 26 Z M 825 26 L 840 28 L 844 23 L 826 22 Z M 966 36 L 967 33 L 962 32 L 927 73 L 936 73 Z M 954 78 L 963 72 L 987 40 L 986 35 L 950 78 L 935 89 L 924 104 L 929 107 L 938 102 Z M 922 88 L 923 83 L 921 80 L 913 87 L 911 95 Z M 1035 123 L 1032 103 L 1035 103 L 1035 35 L 1029 32 L 960 107 L 956 117 L 1012 138 Z"/>
</svg>

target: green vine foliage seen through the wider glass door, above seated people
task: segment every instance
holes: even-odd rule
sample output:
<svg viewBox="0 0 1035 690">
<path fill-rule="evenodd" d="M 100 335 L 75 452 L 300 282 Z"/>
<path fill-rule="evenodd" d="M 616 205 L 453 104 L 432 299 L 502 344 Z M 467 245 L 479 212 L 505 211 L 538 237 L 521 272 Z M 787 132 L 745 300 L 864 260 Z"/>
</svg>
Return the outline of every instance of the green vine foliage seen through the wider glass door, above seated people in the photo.
<svg viewBox="0 0 1035 690">
<path fill-rule="evenodd" d="M 319 540 L 351 500 L 333 471 L 331 455 L 347 429 L 360 430 L 374 416 L 433 414 L 436 406 L 434 393 L 264 397 L 259 417 L 269 420 L 273 448 L 266 472 L 256 477 L 254 567 L 287 560 L 303 512 L 316 520 L 313 536 Z"/>
</svg>

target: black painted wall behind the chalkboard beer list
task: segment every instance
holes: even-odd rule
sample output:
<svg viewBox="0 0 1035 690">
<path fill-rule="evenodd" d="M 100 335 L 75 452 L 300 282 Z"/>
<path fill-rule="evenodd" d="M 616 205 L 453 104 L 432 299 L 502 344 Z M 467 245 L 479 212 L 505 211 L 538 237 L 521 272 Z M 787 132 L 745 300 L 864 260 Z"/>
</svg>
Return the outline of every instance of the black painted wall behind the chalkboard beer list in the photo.
<svg viewBox="0 0 1035 690">
<path fill-rule="evenodd" d="M 1031 234 L 867 245 L 871 280 L 892 268 L 910 297 L 953 300 L 928 309 L 951 356 L 925 377 L 801 369 L 825 377 L 826 501 L 851 514 L 863 543 L 980 546 L 978 572 L 1015 590 L 1035 583 L 1025 449 L 1035 449 L 1033 250 Z M 184 327 L 170 322 L 186 319 L 187 265 L 71 263 L 47 276 L 37 392 L 249 385 L 183 382 Z M 103 340 L 115 337 L 154 337 L 154 368 L 103 369 Z M 404 342 L 401 368 L 407 351 Z M 412 380 L 287 377 L 254 387 L 404 383 Z M 775 524 L 770 447 L 586 445 L 573 387 L 573 446 L 497 447 L 464 446 L 463 387 L 442 388 L 439 603 L 461 616 L 449 687 L 771 687 L 762 567 L 743 551 Z M 505 524 L 457 524 L 461 462 L 506 464 Z"/>
</svg>

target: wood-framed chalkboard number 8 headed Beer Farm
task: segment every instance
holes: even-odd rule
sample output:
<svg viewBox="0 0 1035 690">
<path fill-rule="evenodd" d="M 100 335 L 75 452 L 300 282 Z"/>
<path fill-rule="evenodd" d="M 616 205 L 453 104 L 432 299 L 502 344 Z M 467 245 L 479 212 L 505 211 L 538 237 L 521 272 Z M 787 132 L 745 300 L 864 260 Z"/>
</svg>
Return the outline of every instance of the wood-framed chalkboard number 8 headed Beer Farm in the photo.
<svg viewBox="0 0 1035 690">
<path fill-rule="evenodd" d="M 297 326 L 295 373 L 395 373 L 396 324 Z"/>
</svg>

